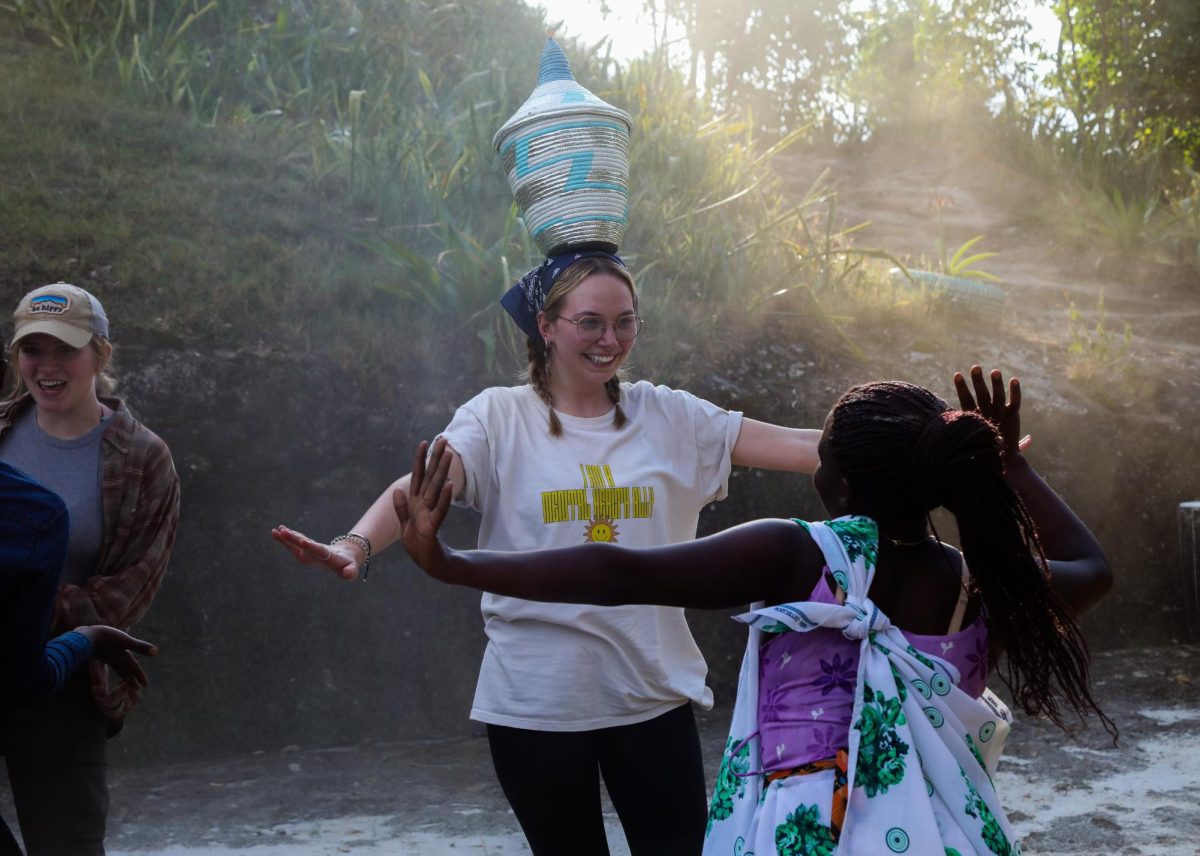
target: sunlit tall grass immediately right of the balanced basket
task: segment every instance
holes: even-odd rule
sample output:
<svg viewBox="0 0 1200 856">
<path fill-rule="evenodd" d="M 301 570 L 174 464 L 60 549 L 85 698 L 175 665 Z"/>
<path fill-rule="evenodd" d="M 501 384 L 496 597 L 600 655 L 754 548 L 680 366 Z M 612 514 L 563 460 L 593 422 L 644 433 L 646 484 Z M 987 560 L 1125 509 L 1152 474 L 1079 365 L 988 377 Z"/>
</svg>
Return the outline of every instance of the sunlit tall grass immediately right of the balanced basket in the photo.
<svg viewBox="0 0 1200 856">
<path fill-rule="evenodd" d="M 842 312 L 878 299 L 872 265 L 890 256 L 854 246 L 865 223 L 839 220 L 827 172 L 796 172 L 787 155 L 809 128 L 761 140 L 752 115 L 713 115 L 660 56 L 602 79 L 635 122 L 625 253 L 655 321 L 643 353 L 686 377 L 767 319 L 784 335 L 832 330 L 859 354 Z"/>
</svg>

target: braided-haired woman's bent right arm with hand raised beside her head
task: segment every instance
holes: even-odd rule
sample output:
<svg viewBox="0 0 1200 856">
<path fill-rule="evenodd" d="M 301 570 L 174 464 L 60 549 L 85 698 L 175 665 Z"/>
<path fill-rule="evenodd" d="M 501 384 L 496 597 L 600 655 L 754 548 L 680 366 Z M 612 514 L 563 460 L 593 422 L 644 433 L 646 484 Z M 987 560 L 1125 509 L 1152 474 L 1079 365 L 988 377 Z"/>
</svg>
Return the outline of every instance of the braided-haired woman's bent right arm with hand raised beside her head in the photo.
<svg viewBox="0 0 1200 856">
<path fill-rule="evenodd" d="M 1004 441 L 1004 479 L 1025 503 L 1038 527 L 1038 540 L 1050 563 L 1050 585 L 1055 593 L 1079 615 L 1112 588 L 1112 569 L 1096 535 L 1070 507 L 1054 492 L 1021 454 L 1021 384 L 1015 377 L 1004 381 L 1000 371 L 991 372 L 991 388 L 983 369 L 971 366 L 971 384 L 961 372 L 954 376 L 959 403 L 965 411 L 978 411 L 992 421 Z"/>
</svg>

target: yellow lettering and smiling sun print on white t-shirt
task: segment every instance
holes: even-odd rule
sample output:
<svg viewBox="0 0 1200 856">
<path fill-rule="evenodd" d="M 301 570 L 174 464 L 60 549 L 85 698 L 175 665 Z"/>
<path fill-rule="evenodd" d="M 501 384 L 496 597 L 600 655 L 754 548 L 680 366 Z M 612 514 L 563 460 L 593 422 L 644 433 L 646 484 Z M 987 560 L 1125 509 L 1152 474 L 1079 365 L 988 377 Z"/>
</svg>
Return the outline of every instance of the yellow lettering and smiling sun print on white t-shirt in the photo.
<svg viewBox="0 0 1200 856">
<path fill-rule="evenodd" d="M 622 487 L 607 465 L 581 463 L 583 487 L 544 491 L 544 523 L 584 522 L 583 540 L 617 543 L 618 520 L 654 515 L 654 487 Z"/>
</svg>

